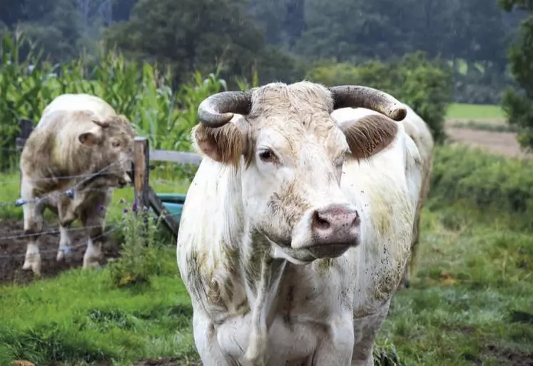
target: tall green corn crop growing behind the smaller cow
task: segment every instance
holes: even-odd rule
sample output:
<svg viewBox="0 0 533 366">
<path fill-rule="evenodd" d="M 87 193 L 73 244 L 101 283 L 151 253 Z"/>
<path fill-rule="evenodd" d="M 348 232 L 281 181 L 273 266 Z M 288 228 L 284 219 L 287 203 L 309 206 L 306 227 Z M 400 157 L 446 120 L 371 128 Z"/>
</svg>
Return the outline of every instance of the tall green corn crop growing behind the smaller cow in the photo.
<svg viewBox="0 0 533 366">
<path fill-rule="evenodd" d="M 21 58 L 21 50 L 25 57 Z M 47 104 L 63 93 L 89 93 L 103 98 L 117 113 L 135 123 L 151 148 L 191 151 L 190 131 L 197 123 L 198 104 L 207 96 L 226 89 L 226 83 L 211 73 L 196 72 L 189 83 L 176 90 L 173 76 L 157 64 L 127 60 L 116 50 L 101 49 L 96 57 L 81 54 L 68 63 L 42 60 L 23 35 L 6 34 L 0 60 L 0 168 L 14 163 L 19 119 L 39 121 Z"/>
</svg>

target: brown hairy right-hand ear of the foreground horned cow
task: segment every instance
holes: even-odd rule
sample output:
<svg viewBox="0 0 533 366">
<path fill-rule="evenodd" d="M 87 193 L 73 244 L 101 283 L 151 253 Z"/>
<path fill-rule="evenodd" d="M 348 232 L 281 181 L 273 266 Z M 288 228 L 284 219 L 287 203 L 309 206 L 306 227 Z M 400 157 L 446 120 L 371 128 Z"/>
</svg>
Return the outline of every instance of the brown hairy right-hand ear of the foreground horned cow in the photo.
<svg viewBox="0 0 533 366">
<path fill-rule="evenodd" d="M 398 122 L 387 116 L 370 115 L 340 124 L 353 158 L 366 159 L 387 148 L 395 141 Z"/>
</svg>

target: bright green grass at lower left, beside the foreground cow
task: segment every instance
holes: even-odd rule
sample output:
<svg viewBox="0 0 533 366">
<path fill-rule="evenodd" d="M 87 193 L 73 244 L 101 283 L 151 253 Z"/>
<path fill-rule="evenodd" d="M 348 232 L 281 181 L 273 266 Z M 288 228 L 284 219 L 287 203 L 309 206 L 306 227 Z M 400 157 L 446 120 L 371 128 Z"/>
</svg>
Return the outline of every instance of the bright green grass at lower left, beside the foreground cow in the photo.
<svg viewBox="0 0 533 366">
<path fill-rule="evenodd" d="M 53 280 L 0 291 L 0 364 L 79 365 L 143 357 L 195 360 L 192 310 L 178 276 L 176 251 L 161 249 L 163 275 L 150 285 L 117 290 L 107 269 L 70 270 Z"/>
</svg>

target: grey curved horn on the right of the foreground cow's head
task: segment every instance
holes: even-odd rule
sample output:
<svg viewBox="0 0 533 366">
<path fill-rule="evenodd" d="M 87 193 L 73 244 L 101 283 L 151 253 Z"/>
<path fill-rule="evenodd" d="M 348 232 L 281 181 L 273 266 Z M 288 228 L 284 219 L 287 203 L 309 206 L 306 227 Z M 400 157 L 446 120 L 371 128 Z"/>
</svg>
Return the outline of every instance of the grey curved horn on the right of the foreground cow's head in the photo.
<svg viewBox="0 0 533 366">
<path fill-rule="evenodd" d="M 355 85 L 332 86 L 329 89 L 333 97 L 334 109 L 368 108 L 385 114 L 394 121 L 402 121 L 407 116 L 405 106 L 384 91 Z"/>
</svg>

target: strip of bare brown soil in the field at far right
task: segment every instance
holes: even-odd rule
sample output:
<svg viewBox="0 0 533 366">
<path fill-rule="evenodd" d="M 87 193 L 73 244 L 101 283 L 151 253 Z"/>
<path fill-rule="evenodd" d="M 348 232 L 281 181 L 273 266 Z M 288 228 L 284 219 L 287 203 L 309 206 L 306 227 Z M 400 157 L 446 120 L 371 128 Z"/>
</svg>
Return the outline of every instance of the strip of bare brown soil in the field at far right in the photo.
<svg viewBox="0 0 533 366">
<path fill-rule="evenodd" d="M 446 132 L 453 142 L 477 146 L 502 156 L 532 158 L 532 154 L 524 153 L 520 149 L 516 133 L 481 131 L 469 128 L 447 128 Z"/>
</svg>

